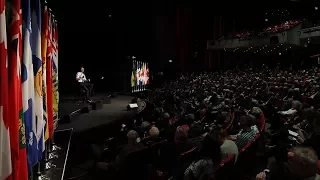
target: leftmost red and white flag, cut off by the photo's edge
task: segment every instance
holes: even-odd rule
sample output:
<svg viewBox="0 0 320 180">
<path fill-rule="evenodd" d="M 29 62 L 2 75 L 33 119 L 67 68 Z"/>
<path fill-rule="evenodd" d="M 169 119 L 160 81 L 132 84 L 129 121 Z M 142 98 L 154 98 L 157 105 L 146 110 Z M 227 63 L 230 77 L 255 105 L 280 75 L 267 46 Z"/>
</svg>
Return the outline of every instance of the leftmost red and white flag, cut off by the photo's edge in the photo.
<svg viewBox="0 0 320 180">
<path fill-rule="evenodd" d="M 0 179 L 12 179 L 8 126 L 8 58 L 5 0 L 0 0 Z"/>
</svg>

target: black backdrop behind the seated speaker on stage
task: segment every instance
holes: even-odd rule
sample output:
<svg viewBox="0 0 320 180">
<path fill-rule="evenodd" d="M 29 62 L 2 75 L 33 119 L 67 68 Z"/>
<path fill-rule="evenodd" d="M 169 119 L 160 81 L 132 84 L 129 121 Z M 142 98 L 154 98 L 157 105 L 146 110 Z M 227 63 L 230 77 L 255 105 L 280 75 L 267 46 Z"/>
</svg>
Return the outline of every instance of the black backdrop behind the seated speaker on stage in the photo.
<svg viewBox="0 0 320 180">
<path fill-rule="evenodd" d="M 151 59 L 151 4 L 52 1 L 49 5 L 59 23 L 61 94 L 77 90 L 75 75 L 81 66 L 97 91 L 129 90 L 132 63 L 125 56 Z"/>
</svg>

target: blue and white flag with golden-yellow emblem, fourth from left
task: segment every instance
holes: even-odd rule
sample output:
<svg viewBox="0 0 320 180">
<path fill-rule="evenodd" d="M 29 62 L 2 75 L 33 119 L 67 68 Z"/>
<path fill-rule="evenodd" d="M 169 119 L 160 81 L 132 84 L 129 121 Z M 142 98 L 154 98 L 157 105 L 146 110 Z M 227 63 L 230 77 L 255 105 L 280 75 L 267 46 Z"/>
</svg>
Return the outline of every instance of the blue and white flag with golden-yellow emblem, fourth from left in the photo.
<svg viewBox="0 0 320 180">
<path fill-rule="evenodd" d="M 36 138 L 38 145 L 38 159 L 42 159 L 45 150 L 43 119 L 43 90 L 42 90 L 42 60 L 41 60 L 41 4 L 40 0 L 31 0 L 32 25 L 32 63 L 34 71 L 34 112 L 36 123 Z"/>
</svg>

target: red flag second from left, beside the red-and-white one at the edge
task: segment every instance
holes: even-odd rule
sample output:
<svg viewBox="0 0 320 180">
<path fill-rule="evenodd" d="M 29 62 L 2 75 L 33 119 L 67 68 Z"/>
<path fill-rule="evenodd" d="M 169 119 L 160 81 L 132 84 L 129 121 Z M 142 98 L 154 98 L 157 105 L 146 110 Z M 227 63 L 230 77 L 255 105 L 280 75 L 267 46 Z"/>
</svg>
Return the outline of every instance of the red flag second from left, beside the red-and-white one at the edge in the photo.
<svg viewBox="0 0 320 180">
<path fill-rule="evenodd" d="M 11 0 L 8 42 L 10 146 L 13 179 L 28 180 L 25 123 L 22 105 L 22 8 L 20 0 Z"/>
</svg>

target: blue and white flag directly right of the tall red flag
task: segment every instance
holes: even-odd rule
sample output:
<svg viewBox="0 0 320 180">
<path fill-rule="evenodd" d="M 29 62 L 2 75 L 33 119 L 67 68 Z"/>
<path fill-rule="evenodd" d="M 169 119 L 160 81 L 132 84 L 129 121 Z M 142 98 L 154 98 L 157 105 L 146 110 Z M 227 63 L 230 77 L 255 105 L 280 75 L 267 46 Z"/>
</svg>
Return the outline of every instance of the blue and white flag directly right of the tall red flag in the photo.
<svg viewBox="0 0 320 180">
<path fill-rule="evenodd" d="M 28 169 L 38 162 L 36 119 L 34 113 L 34 72 L 32 63 L 32 31 L 30 0 L 23 1 L 23 65 L 22 65 L 22 102 L 26 125 Z"/>
</svg>

